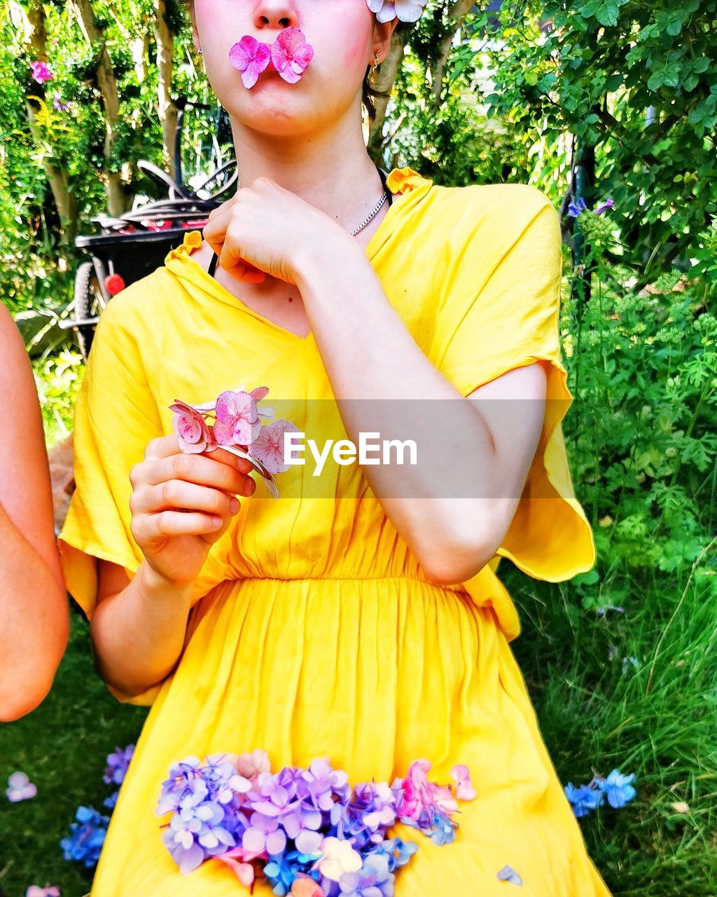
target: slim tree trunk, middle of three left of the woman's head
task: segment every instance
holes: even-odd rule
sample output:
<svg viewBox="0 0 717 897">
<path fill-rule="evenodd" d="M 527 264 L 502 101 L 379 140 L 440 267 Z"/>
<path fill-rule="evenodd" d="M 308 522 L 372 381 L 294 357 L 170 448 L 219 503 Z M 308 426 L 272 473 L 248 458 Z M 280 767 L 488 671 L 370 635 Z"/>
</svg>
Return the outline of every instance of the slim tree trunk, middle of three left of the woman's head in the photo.
<svg viewBox="0 0 717 897">
<path fill-rule="evenodd" d="M 117 143 L 117 127 L 119 125 L 117 79 L 115 78 L 112 60 L 109 58 L 108 49 L 103 39 L 103 29 L 100 29 L 95 22 L 91 0 L 69 0 L 68 5 L 73 10 L 88 45 L 91 47 L 93 43 L 97 42 L 100 47 L 96 59 L 97 83 L 105 112 L 105 140 L 103 147 L 105 164 L 101 178 L 105 185 L 108 213 L 117 217 L 117 215 L 126 212 L 132 205 L 132 197 L 125 190 L 121 173 L 110 170 L 112 150 Z"/>
</svg>

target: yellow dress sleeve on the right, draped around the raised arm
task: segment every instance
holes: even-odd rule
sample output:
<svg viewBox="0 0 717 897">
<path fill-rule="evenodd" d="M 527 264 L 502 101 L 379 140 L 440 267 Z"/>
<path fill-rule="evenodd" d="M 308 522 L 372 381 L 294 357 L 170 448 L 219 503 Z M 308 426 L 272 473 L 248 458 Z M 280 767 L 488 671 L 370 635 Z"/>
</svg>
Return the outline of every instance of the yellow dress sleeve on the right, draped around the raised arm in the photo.
<svg viewBox="0 0 717 897">
<path fill-rule="evenodd" d="M 477 595 L 479 584 L 484 594 L 489 586 L 497 593 L 494 606 L 509 601 L 493 576 L 500 557 L 549 582 L 590 570 L 596 557 L 592 527 L 575 498 L 561 424 L 573 396 L 560 348 L 559 220 L 547 196 L 534 187 L 515 185 L 510 193 L 498 206 L 492 233 L 469 238 L 474 245 L 458 266 L 452 292 L 459 302 L 439 364 L 462 396 L 469 396 L 508 370 L 539 359 L 550 362 L 540 440 L 513 521 L 495 563 L 466 584 Z M 472 294 L 471 277 L 479 281 Z M 504 620 L 506 631 L 514 637 L 517 617 L 514 610 L 504 611 L 511 618 Z"/>
</svg>

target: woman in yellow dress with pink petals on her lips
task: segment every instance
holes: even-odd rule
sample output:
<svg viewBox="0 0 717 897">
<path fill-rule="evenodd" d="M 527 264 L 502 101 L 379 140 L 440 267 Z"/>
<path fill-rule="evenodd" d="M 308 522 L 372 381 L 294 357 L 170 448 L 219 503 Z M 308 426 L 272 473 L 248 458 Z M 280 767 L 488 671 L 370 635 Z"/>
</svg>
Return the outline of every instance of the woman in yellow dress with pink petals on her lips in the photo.
<svg viewBox="0 0 717 897">
<path fill-rule="evenodd" d="M 533 187 L 442 187 L 409 168 L 378 205 L 359 104 L 396 22 L 365 0 L 330 14 L 324 0 L 196 0 L 192 13 L 246 187 L 204 241 L 187 233 L 112 300 L 76 405 L 65 579 L 109 689 L 151 705 L 91 895 L 248 893 L 218 860 L 181 875 L 155 807 L 171 764 L 261 748 L 274 771 L 328 757 L 350 782 L 392 782 L 419 758 L 439 783 L 468 766 L 477 797 L 452 843 L 394 827 L 419 843 L 399 895 L 522 881 L 532 897 L 605 897 L 496 575 L 501 557 L 552 582 L 595 560 L 561 431 L 557 213 Z M 239 83 L 229 49 L 289 27 L 314 49 L 300 79 L 266 68 Z M 259 386 L 307 436 L 339 407 L 354 443 L 384 400 L 392 435 L 410 436 L 424 401 L 450 407 L 451 426 L 432 428 L 448 463 L 333 465 L 322 491 L 292 466 L 276 500 L 226 451 L 181 452 L 175 399 Z M 518 423 L 505 399 L 524 400 Z M 446 472 L 470 491 L 449 494 Z"/>
</svg>

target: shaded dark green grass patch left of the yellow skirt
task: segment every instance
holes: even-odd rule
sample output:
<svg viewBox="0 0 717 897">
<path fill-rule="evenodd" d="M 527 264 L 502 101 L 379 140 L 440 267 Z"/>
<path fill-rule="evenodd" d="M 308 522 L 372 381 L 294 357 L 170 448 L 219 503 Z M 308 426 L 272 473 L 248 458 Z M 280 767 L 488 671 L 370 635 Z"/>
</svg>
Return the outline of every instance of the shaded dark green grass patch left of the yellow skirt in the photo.
<svg viewBox="0 0 717 897">
<path fill-rule="evenodd" d="M 20 770 L 37 797 L 10 804 L 0 814 L 0 888 L 24 897 L 30 884 L 57 884 L 63 897 L 88 893 L 92 870 L 63 858 L 78 806 L 109 811 L 102 801 L 113 788 L 102 781 L 105 758 L 117 745 L 134 743 L 147 709 L 121 704 L 96 674 L 87 623 L 73 613 L 70 642 L 48 698 L 29 716 L 8 723 L 0 736 L 0 782 Z"/>
</svg>

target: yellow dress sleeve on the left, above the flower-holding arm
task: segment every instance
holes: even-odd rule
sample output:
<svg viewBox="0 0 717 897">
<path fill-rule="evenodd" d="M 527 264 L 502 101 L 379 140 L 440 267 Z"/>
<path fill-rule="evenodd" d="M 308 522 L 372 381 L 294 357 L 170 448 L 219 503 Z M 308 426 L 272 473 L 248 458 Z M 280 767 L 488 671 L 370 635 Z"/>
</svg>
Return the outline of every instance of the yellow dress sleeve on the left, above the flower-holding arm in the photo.
<svg viewBox="0 0 717 897">
<path fill-rule="evenodd" d="M 131 288 L 130 288 L 131 289 Z M 98 559 L 124 567 L 130 579 L 143 560 L 130 529 L 131 468 L 147 443 L 162 435 L 143 360 L 122 314 L 122 297 L 102 312 L 74 410 L 75 490 L 58 536 L 67 590 L 91 620 L 97 603 Z M 157 686 L 120 701 L 151 703 Z"/>
</svg>

